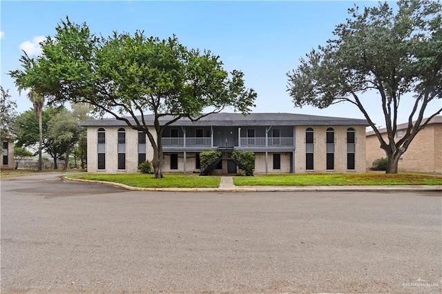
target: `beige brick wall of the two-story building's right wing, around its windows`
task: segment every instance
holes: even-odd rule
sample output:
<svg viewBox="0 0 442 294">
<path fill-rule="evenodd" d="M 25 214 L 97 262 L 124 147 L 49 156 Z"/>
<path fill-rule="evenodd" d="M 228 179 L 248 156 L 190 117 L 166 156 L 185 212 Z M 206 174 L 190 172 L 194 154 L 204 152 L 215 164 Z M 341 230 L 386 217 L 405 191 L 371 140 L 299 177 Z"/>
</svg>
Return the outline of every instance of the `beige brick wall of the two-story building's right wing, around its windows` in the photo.
<svg viewBox="0 0 442 294">
<path fill-rule="evenodd" d="M 314 129 L 314 170 L 305 170 L 305 130 Z M 334 129 L 334 170 L 326 167 L 326 130 Z M 355 130 L 355 169 L 347 170 L 347 129 Z M 365 126 L 297 126 L 295 173 L 365 173 Z"/>
</svg>

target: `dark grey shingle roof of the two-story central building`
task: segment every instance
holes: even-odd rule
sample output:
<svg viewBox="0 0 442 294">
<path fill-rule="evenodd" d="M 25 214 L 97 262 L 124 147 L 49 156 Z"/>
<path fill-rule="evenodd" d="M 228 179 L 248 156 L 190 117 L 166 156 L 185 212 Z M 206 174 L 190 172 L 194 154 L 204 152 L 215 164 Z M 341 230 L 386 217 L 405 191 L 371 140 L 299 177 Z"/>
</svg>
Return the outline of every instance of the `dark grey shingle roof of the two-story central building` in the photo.
<svg viewBox="0 0 442 294">
<path fill-rule="evenodd" d="M 133 118 L 128 118 L 134 122 Z M 153 115 L 144 115 L 148 126 L 153 126 Z M 160 121 L 170 121 L 171 116 L 162 117 Z M 172 126 L 368 126 L 366 119 L 349 119 L 343 117 L 322 117 L 318 115 L 298 115 L 294 113 L 215 113 L 192 122 L 182 118 Z M 83 121 L 81 126 L 126 126 L 117 119 L 90 119 Z"/>
</svg>

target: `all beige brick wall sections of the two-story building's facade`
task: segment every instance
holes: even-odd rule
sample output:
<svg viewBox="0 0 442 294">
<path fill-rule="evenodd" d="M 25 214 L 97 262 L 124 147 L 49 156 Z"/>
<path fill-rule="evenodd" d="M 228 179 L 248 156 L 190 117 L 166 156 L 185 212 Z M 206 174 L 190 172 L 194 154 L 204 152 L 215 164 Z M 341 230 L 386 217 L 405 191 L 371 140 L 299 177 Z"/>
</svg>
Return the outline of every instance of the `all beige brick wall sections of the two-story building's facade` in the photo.
<svg viewBox="0 0 442 294">
<path fill-rule="evenodd" d="M 306 173 L 305 171 L 305 129 L 309 126 L 296 126 L 296 151 L 295 173 Z M 327 128 L 334 128 L 335 132 L 335 168 L 326 170 L 326 143 L 325 135 Z M 347 170 L 347 128 L 350 126 L 312 126 L 314 128 L 314 170 L 307 173 L 365 173 L 365 127 L 351 126 L 355 129 L 356 135 L 356 154 L 355 170 Z M 117 130 L 120 127 L 112 126 L 104 128 L 106 130 L 106 169 L 97 169 L 97 130 L 99 127 L 88 127 L 88 171 L 105 173 L 136 173 L 137 172 L 137 131 L 125 127 L 126 130 L 126 169 L 117 169 Z M 155 136 L 153 128 L 151 132 Z M 171 157 L 166 153 L 163 161 L 163 171 L 173 173 L 184 172 L 184 153 L 178 154 L 178 168 L 170 169 Z M 273 170 L 273 154 L 280 154 L 280 169 Z M 290 173 L 291 154 L 293 151 L 281 151 L 267 153 L 267 173 Z M 256 152 L 255 173 L 266 173 L 265 152 Z M 153 148 L 146 139 L 146 158 L 151 160 L 153 157 Z M 186 152 L 186 173 L 198 172 L 195 168 L 195 152 Z M 227 168 L 224 168 L 227 170 Z"/>
</svg>

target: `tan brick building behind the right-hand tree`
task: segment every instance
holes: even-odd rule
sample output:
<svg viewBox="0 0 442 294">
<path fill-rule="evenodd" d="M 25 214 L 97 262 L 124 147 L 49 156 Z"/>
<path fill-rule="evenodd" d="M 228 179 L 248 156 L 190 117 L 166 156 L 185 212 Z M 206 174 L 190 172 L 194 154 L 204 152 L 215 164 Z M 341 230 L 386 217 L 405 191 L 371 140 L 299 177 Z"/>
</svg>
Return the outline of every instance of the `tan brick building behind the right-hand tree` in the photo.
<svg viewBox="0 0 442 294">
<path fill-rule="evenodd" d="M 427 119 L 423 119 L 423 122 Z M 397 126 L 396 140 L 400 139 L 407 130 L 408 124 Z M 387 141 L 387 130 L 379 130 Z M 367 167 L 371 167 L 375 159 L 387 157 L 381 149 L 381 144 L 374 131 L 367 133 Z M 442 173 L 442 116 L 438 115 L 414 137 L 407 151 L 398 162 L 398 170 L 427 173 Z"/>
</svg>

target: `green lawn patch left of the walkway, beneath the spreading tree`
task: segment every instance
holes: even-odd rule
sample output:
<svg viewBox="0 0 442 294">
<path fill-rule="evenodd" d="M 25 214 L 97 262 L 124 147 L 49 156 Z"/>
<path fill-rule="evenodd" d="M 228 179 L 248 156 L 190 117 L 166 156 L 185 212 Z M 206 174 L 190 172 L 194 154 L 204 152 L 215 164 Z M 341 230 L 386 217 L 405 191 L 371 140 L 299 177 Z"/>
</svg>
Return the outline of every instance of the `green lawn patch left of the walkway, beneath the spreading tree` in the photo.
<svg viewBox="0 0 442 294">
<path fill-rule="evenodd" d="M 195 175 L 164 175 L 162 179 L 155 179 L 153 175 L 146 174 L 74 174 L 68 175 L 73 179 L 89 179 L 124 184 L 137 188 L 218 188 L 220 177 L 198 177 Z"/>
</svg>

